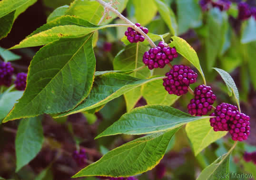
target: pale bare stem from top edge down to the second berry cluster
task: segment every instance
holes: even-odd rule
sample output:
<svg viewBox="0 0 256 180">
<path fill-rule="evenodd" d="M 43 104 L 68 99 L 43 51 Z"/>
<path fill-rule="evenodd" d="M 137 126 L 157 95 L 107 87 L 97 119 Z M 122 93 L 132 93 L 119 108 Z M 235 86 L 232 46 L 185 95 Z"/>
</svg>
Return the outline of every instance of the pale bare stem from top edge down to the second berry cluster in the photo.
<svg viewBox="0 0 256 180">
<path fill-rule="evenodd" d="M 155 45 L 155 43 L 148 37 L 148 35 L 143 32 L 143 30 L 141 30 L 140 28 L 138 28 L 133 22 L 131 22 L 129 19 L 127 19 L 126 17 L 124 17 L 120 12 L 118 12 L 118 10 L 116 10 L 115 8 L 113 8 L 111 6 L 111 4 L 104 2 L 103 0 L 96 0 L 99 4 L 101 4 L 106 11 L 110 10 L 112 12 L 114 12 L 120 19 L 124 20 L 125 22 L 127 22 L 128 24 L 130 24 L 132 26 L 133 29 L 135 29 L 136 31 L 138 31 L 141 35 L 143 35 L 145 37 L 145 39 L 149 42 L 149 44 L 152 47 L 157 47 Z"/>
</svg>

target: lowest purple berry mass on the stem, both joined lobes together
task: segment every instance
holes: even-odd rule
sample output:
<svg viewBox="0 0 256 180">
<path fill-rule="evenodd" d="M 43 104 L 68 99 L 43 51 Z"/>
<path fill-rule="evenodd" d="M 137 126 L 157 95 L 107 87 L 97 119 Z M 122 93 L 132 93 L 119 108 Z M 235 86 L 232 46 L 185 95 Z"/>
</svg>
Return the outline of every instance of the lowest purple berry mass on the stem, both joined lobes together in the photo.
<svg viewBox="0 0 256 180">
<path fill-rule="evenodd" d="M 210 118 L 214 131 L 228 131 L 234 141 L 244 141 L 250 134 L 250 117 L 239 113 L 237 107 L 232 104 L 221 103 L 217 105 Z"/>
</svg>

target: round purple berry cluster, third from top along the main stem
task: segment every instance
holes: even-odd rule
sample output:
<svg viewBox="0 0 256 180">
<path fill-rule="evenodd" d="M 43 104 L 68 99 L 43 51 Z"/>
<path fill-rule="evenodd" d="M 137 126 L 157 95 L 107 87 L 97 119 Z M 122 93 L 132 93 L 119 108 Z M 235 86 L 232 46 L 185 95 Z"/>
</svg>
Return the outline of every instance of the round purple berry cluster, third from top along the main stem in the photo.
<svg viewBox="0 0 256 180">
<path fill-rule="evenodd" d="M 163 79 L 163 85 L 170 95 L 186 94 L 188 86 L 195 83 L 197 79 L 197 73 L 189 66 L 185 65 L 174 65 L 173 68 L 166 73 L 166 76 L 167 78 Z"/>
</svg>

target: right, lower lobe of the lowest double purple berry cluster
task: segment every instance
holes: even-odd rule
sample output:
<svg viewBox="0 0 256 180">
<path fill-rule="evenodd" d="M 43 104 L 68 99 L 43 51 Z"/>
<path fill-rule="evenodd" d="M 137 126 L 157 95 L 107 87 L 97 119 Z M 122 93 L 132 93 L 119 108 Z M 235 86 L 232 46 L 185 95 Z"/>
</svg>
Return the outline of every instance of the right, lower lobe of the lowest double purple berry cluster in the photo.
<svg viewBox="0 0 256 180">
<path fill-rule="evenodd" d="M 236 111 L 236 115 L 229 119 L 229 133 L 234 141 L 244 141 L 250 134 L 250 117 Z"/>
</svg>

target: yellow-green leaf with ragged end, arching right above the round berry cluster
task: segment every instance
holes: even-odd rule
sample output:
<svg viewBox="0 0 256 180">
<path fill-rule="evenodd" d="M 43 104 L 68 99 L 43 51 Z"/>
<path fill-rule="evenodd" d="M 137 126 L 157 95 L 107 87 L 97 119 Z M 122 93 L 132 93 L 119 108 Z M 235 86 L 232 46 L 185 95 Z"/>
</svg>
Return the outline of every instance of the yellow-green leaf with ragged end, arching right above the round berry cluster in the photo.
<svg viewBox="0 0 256 180">
<path fill-rule="evenodd" d="M 206 79 L 205 79 L 205 75 L 203 73 L 203 70 L 200 66 L 200 62 L 199 59 L 197 57 L 197 53 L 196 51 L 193 49 L 193 47 L 191 47 L 186 40 L 184 40 L 183 38 L 179 38 L 177 36 L 173 36 L 172 37 L 173 41 L 171 41 L 171 43 L 169 44 L 170 47 L 176 47 L 177 52 L 182 55 L 183 57 L 185 57 L 190 63 L 192 63 L 197 70 L 199 71 L 199 73 L 202 75 L 203 80 L 206 84 Z"/>
</svg>

